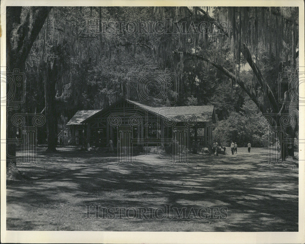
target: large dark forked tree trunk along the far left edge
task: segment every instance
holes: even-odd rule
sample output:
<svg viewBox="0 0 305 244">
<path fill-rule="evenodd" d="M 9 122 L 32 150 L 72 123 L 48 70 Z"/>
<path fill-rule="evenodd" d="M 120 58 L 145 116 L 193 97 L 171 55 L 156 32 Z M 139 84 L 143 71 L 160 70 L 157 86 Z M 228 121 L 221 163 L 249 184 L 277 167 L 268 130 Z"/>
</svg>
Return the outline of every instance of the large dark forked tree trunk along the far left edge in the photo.
<svg viewBox="0 0 305 244">
<path fill-rule="evenodd" d="M 24 18 L 21 20 L 22 7 L 12 7 L 6 9 L 6 65 L 9 72 L 18 69 L 22 72 L 24 69 L 25 60 L 30 52 L 34 40 L 41 30 L 46 17 L 52 7 L 30 7 L 24 12 Z M 9 90 L 7 90 L 7 93 Z M 16 136 L 16 127 L 12 124 L 12 116 L 14 115 L 12 109 L 13 101 L 20 101 L 22 93 L 16 93 L 13 100 L 7 97 L 6 109 L 6 138 L 14 139 Z M 19 106 L 14 106 L 18 109 Z M 7 157 L 6 167 L 12 175 L 12 169 L 16 168 L 16 145 L 6 144 L 6 153 L 11 157 Z"/>
</svg>

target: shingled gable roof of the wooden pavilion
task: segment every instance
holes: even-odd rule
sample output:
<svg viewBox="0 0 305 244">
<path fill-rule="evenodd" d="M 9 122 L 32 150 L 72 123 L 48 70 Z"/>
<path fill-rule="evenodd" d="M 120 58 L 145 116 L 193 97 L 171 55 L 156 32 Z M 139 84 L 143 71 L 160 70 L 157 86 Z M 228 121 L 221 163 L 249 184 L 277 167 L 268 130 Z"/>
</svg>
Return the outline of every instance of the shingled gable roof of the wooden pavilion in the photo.
<svg viewBox="0 0 305 244">
<path fill-rule="evenodd" d="M 183 122 L 187 116 L 195 115 L 197 122 L 213 122 L 217 123 L 217 117 L 214 111 L 214 106 L 178 106 L 178 107 L 151 107 L 125 98 L 118 100 L 102 110 L 79 110 L 70 119 L 67 125 L 85 124 L 91 117 L 99 117 L 107 110 L 111 109 L 118 103 L 125 101 L 138 106 L 156 116 L 171 117 L 176 122 Z"/>
</svg>

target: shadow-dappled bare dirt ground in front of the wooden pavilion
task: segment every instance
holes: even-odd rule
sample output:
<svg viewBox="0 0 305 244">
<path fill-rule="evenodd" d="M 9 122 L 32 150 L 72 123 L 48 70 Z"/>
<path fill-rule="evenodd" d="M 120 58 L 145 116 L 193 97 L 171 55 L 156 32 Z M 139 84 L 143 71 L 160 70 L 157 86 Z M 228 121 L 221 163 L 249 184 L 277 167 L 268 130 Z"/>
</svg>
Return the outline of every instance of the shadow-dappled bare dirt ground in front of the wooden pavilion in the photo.
<svg viewBox="0 0 305 244">
<path fill-rule="evenodd" d="M 168 155 L 156 153 L 139 155 L 135 165 L 117 165 L 115 153 L 67 146 L 45 154 L 45 149 L 38 148 L 38 165 L 18 166 L 27 180 L 7 185 L 7 230 L 298 231 L 298 164 L 268 165 L 264 148 L 190 154 L 188 164 L 174 165 Z M 201 208 L 206 215 L 166 215 L 164 204 L 185 207 L 186 213 Z M 102 211 L 111 207 L 131 211 Z M 138 209 L 151 212 L 133 218 Z M 222 214 L 215 217 L 213 209 Z"/>
</svg>

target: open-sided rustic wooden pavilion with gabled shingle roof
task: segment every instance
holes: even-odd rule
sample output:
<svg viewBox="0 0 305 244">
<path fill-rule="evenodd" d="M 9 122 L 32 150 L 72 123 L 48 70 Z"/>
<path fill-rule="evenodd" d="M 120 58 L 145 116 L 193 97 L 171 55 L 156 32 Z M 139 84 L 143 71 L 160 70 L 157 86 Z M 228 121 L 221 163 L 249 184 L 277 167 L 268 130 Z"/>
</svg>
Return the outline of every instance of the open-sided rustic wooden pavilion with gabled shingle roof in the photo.
<svg viewBox="0 0 305 244">
<path fill-rule="evenodd" d="M 120 140 L 125 146 L 173 140 L 207 146 L 215 123 L 214 106 L 155 107 L 120 99 L 103 110 L 77 111 L 67 126 L 73 144 L 103 147 L 112 139 L 114 145 Z"/>
</svg>

